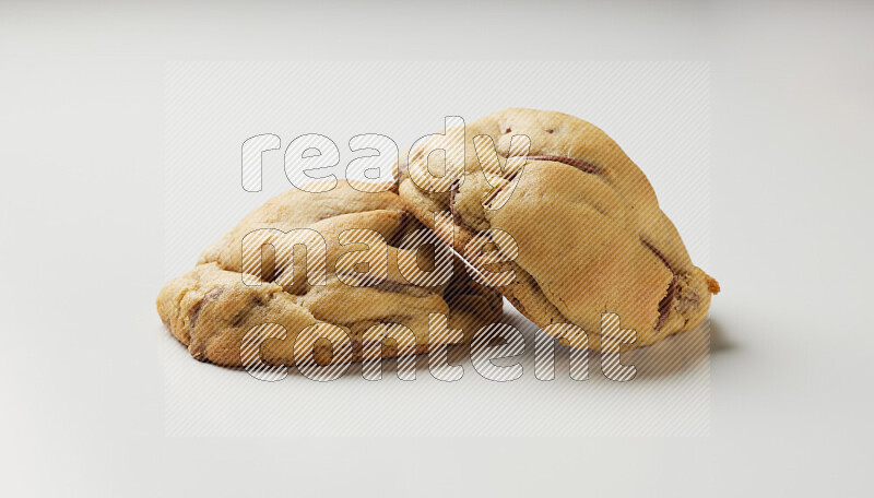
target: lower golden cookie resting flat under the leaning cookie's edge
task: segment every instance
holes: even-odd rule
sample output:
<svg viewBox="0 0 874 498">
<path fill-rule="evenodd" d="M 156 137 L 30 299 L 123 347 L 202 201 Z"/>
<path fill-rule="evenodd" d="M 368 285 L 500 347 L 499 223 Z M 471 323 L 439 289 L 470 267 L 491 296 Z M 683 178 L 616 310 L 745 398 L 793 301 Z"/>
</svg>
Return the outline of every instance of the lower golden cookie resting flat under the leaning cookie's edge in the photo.
<svg viewBox="0 0 874 498">
<path fill-rule="evenodd" d="M 302 268 L 292 268 L 290 261 L 270 254 L 264 257 L 260 274 L 244 275 L 241 240 L 259 228 L 282 232 L 310 228 L 321 234 L 327 244 L 324 285 L 312 285 Z M 389 257 L 387 277 L 378 285 L 350 285 L 361 284 L 356 280 L 359 275 L 349 268 L 338 269 L 343 254 L 368 252 L 361 251 L 361 245 L 343 246 L 338 239 L 344 230 L 362 228 L 375 230 L 386 240 L 380 247 Z M 463 330 L 461 342 L 470 340 L 484 324 L 498 321 L 500 296 L 468 278 L 460 263 L 451 280 L 442 285 L 422 287 L 403 278 L 397 259 L 404 250 L 397 244 L 415 229 L 424 228 L 403 211 L 397 190 L 365 193 L 344 180 L 327 192 L 292 189 L 246 216 L 203 251 L 193 270 L 167 283 L 158 295 L 157 310 L 173 335 L 188 346 L 194 358 L 225 366 L 241 364 L 243 337 L 261 323 L 277 323 L 287 331 L 284 341 L 263 343 L 262 359 L 292 365 L 296 334 L 316 323 L 341 327 L 350 336 L 351 344 L 345 346 L 352 348 L 352 358 L 357 360 L 362 357 L 363 333 L 375 324 L 400 323 L 410 328 L 416 337 L 415 352 L 424 353 L 441 343 L 428 343 L 429 313 L 447 315 L 450 328 Z M 428 254 L 433 257 L 428 251 L 421 256 L 423 266 L 429 264 Z M 275 283 L 279 275 L 288 277 L 284 285 Z M 332 356 L 330 347 L 322 346 L 317 345 L 316 359 L 334 361 L 336 355 Z M 398 352 L 389 345 L 381 355 L 394 356 Z"/>
</svg>

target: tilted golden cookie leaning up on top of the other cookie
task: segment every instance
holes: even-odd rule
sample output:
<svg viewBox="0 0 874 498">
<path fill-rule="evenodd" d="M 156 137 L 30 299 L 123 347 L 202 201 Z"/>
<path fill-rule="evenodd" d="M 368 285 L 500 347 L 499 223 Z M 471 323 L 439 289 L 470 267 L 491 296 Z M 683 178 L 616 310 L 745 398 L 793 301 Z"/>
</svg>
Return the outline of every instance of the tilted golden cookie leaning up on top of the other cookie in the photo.
<svg viewBox="0 0 874 498">
<path fill-rule="evenodd" d="M 435 212 L 451 213 L 453 229 L 438 233 L 471 263 L 485 246 L 497 250 L 479 266 L 507 272 L 497 289 L 525 317 L 581 327 L 600 348 L 601 315 L 614 312 L 637 332 L 624 349 L 706 318 L 719 285 L 692 263 L 647 177 L 603 131 L 562 112 L 507 109 L 469 123 L 462 152 L 451 145 L 459 130 L 410 151 L 400 195 L 430 227 Z"/>
</svg>

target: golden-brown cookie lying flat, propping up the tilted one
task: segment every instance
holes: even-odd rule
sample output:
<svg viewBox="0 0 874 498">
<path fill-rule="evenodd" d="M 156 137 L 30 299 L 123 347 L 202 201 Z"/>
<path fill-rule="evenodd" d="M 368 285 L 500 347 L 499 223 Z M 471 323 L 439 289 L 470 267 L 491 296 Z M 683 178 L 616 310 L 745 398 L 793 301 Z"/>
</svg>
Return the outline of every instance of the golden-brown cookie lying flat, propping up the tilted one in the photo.
<svg viewBox="0 0 874 498">
<path fill-rule="evenodd" d="M 334 353 L 347 347 L 345 359 L 358 360 L 374 325 L 409 328 L 415 352 L 424 353 L 465 342 L 498 321 L 500 296 L 471 281 L 457 259 L 438 261 L 436 254 L 450 253 L 448 248 L 403 210 L 397 185 L 385 187 L 364 192 L 339 180 L 329 191 L 293 189 L 270 199 L 204 250 L 193 270 L 164 286 L 158 315 L 194 358 L 225 366 L 241 365 L 244 337 L 263 323 L 284 327 L 287 336 L 265 341 L 261 359 L 293 365 L 296 335 L 310 325 L 341 328 L 347 339 L 333 344 Z M 411 246 L 423 241 L 442 246 L 442 252 Z M 309 244 L 305 252 L 297 242 Z M 447 264 L 452 271 L 439 275 L 445 278 L 428 282 Z M 423 285 L 410 282 L 423 275 Z M 428 342 L 429 313 L 447 316 L 463 336 Z M 387 344 L 383 357 L 400 353 Z M 316 344 L 315 357 L 321 364 L 344 358 L 323 342 Z"/>
</svg>

